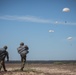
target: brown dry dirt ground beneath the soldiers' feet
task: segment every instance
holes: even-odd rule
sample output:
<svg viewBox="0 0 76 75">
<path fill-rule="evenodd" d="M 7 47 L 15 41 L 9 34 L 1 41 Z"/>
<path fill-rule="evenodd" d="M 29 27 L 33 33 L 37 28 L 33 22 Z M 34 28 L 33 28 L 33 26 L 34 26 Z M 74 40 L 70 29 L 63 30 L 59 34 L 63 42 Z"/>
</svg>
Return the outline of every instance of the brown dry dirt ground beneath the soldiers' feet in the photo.
<svg viewBox="0 0 76 75">
<path fill-rule="evenodd" d="M 8 72 L 0 75 L 76 75 L 76 64 L 26 64 L 20 71 L 20 64 L 6 64 Z"/>
</svg>

